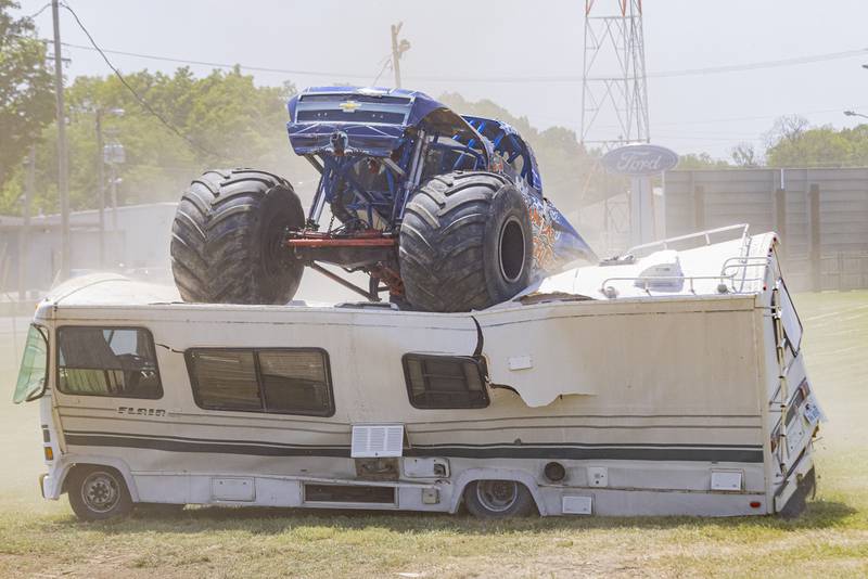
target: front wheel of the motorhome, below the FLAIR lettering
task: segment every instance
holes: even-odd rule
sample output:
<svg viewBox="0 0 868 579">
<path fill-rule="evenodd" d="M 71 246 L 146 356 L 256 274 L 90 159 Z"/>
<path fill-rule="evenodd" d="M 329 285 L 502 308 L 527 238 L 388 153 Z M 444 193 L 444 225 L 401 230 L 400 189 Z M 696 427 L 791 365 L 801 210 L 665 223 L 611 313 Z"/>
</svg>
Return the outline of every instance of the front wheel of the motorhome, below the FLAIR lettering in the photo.
<svg viewBox="0 0 868 579">
<path fill-rule="evenodd" d="M 127 484 L 108 466 L 76 466 L 68 475 L 69 505 L 81 520 L 103 520 L 132 510 Z"/>
</svg>

